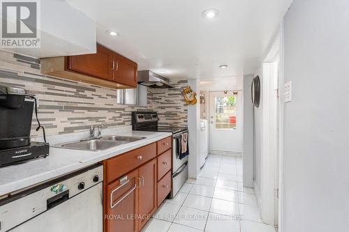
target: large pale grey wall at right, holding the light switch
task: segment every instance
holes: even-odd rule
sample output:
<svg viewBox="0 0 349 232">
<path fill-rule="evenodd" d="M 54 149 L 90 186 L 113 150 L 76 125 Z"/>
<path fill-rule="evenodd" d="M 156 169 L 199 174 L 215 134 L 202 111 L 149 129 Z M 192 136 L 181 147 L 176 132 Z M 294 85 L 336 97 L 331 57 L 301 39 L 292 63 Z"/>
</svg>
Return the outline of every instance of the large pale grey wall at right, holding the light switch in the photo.
<svg viewBox="0 0 349 232">
<path fill-rule="evenodd" d="M 295 0 L 284 22 L 283 232 L 349 229 L 349 1 Z"/>
</svg>

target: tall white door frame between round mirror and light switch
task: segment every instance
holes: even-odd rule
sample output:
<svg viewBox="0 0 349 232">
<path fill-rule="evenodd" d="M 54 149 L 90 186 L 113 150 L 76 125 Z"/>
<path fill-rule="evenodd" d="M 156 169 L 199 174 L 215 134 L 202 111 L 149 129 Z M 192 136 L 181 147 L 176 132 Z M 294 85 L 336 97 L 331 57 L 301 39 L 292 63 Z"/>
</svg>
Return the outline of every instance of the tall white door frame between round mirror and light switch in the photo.
<svg viewBox="0 0 349 232">
<path fill-rule="evenodd" d="M 273 94 L 274 94 L 274 82 L 271 72 L 271 65 L 275 61 L 276 57 L 279 57 L 279 132 L 277 136 L 273 130 L 272 114 L 273 111 Z M 283 22 L 279 28 L 278 36 L 273 42 L 273 45 L 269 49 L 268 55 L 262 62 L 262 142 L 261 142 L 261 184 L 260 184 L 260 214 L 262 221 L 275 226 L 276 217 L 278 218 L 279 231 L 282 231 L 283 222 L 283 176 L 282 176 L 282 165 L 283 165 Z M 278 144 L 277 153 L 278 160 L 275 160 L 273 153 L 273 146 Z M 276 164 L 278 169 L 276 169 Z M 279 201 L 278 201 L 278 213 L 276 215 L 276 198 L 275 198 L 275 177 L 278 175 L 279 182 Z M 256 194 L 258 195 L 258 194 Z M 258 197 L 258 196 L 257 196 Z"/>
</svg>

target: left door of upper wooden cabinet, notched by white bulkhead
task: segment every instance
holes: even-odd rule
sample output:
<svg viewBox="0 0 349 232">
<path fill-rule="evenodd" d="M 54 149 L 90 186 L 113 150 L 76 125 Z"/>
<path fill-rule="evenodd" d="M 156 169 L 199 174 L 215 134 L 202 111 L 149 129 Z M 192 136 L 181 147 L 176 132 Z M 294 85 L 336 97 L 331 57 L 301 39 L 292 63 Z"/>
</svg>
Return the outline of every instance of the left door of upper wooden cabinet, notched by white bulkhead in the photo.
<svg viewBox="0 0 349 232">
<path fill-rule="evenodd" d="M 68 56 L 68 67 L 66 68 L 94 77 L 112 80 L 112 59 L 113 52 L 101 45 L 97 45 L 95 54 Z"/>
</svg>

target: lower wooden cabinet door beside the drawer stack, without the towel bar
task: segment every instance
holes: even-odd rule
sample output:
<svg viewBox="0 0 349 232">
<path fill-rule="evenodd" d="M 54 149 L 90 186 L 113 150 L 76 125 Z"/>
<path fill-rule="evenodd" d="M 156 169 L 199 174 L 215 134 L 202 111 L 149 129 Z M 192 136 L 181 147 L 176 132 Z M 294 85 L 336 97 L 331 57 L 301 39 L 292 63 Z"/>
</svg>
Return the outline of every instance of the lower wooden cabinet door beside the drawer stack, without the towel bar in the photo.
<svg viewBox="0 0 349 232">
<path fill-rule="evenodd" d="M 139 169 L 142 185 L 139 190 L 139 230 L 156 210 L 156 159 L 144 164 Z"/>
</svg>

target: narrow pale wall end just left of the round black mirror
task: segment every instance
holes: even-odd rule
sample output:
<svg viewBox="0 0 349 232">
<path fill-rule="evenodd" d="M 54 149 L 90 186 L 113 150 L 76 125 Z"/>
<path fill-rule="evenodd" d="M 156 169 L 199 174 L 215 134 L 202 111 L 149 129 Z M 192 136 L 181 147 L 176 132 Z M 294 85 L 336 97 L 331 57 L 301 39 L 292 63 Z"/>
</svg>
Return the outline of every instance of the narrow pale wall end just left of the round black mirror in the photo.
<svg viewBox="0 0 349 232">
<path fill-rule="evenodd" d="M 253 187 L 253 104 L 251 85 L 253 75 L 244 75 L 244 130 L 243 130 L 243 157 L 245 187 Z"/>
</svg>

